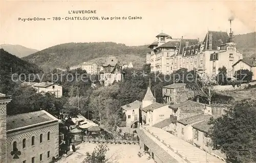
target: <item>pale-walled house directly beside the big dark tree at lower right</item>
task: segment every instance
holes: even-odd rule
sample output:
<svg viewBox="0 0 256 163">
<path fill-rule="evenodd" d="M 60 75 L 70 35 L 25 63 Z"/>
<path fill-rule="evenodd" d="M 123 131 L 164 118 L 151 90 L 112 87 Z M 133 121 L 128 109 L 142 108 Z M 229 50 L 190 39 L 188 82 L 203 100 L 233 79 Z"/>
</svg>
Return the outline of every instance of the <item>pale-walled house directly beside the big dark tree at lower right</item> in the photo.
<svg viewBox="0 0 256 163">
<path fill-rule="evenodd" d="M 211 155 L 214 155 L 222 160 L 226 158 L 225 154 L 221 152 L 219 147 L 213 145 L 211 142 L 208 132 L 212 125 L 209 125 L 208 119 L 195 123 L 191 126 L 193 127 L 193 144 L 196 147 L 207 151 L 207 153 L 210 153 Z"/>
</svg>

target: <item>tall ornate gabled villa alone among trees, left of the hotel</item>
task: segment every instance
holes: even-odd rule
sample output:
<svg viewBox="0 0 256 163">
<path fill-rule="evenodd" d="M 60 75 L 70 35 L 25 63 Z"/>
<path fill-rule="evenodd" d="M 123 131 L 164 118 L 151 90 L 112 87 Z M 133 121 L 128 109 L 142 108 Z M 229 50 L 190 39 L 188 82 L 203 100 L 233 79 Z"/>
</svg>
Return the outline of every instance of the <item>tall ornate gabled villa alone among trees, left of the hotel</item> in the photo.
<svg viewBox="0 0 256 163">
<path fill-rule="evenodd" d="M 100 72 L 100 83 L 105 86 L 119 82 L 123 80 L 123 74 L 121 63 L 117 57 L 109 56 L 105 63 L 102 65 L 102 71 Z"/>
</svg>

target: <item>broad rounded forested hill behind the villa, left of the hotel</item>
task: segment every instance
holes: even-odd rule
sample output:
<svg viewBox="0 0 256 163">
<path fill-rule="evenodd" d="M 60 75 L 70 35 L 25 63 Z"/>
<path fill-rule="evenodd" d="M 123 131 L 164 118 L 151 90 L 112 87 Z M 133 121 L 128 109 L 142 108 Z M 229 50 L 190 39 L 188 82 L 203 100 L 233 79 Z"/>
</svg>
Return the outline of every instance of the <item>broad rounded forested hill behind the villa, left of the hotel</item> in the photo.
<svg viewBox="0 0 256 163">
<path fill-rule="evenodd" d="M 64 43 L 36 52 L 23 59 L 33 62 L 42 68 L 66 68 L 78 65 L 98 57 L 108 55 L 130 55 L 145 60 L 147 45 L 126 46 L 114 42 Z M 145 61 L 143 61 L 144 63 Z"/>
</svg>

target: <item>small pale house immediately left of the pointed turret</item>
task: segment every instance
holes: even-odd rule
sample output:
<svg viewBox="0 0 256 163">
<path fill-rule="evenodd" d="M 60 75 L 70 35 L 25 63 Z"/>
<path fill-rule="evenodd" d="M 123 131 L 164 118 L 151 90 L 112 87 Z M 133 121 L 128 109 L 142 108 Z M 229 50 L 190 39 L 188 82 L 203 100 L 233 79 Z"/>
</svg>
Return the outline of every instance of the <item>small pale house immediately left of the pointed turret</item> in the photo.
<svg viewBox="0 0 256 163">
<path fill-rule="evenodd" d="M 125 112 L 125 115 L 126 115 L 126 126 L 132 127 L 135 123 L 138 124 L 139 109 L 142 107 L 142 102 L 136 100 L 130 104 L 127 104 L 121 107 L 123 109 L 123 112 Z"/>
</svg>

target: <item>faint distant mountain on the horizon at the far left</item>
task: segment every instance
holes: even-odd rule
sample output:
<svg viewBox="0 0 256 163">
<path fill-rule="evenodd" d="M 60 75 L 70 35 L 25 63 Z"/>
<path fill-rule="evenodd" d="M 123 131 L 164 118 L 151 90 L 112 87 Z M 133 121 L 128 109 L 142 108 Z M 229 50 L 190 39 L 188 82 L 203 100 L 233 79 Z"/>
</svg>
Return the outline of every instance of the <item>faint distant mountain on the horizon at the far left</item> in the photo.
<svg viewBox="0 0 256 163">
<path fill-rule="evenodd" d="M 26 57 L 30 54 L 38 52 L 35 49 L 29 49 L 22 45 L 12 45 L 12 44 L 1 44 L 0 49 L 3 48 L 5 51 L 15 55 L 19 58 Z"/>
</svg>

